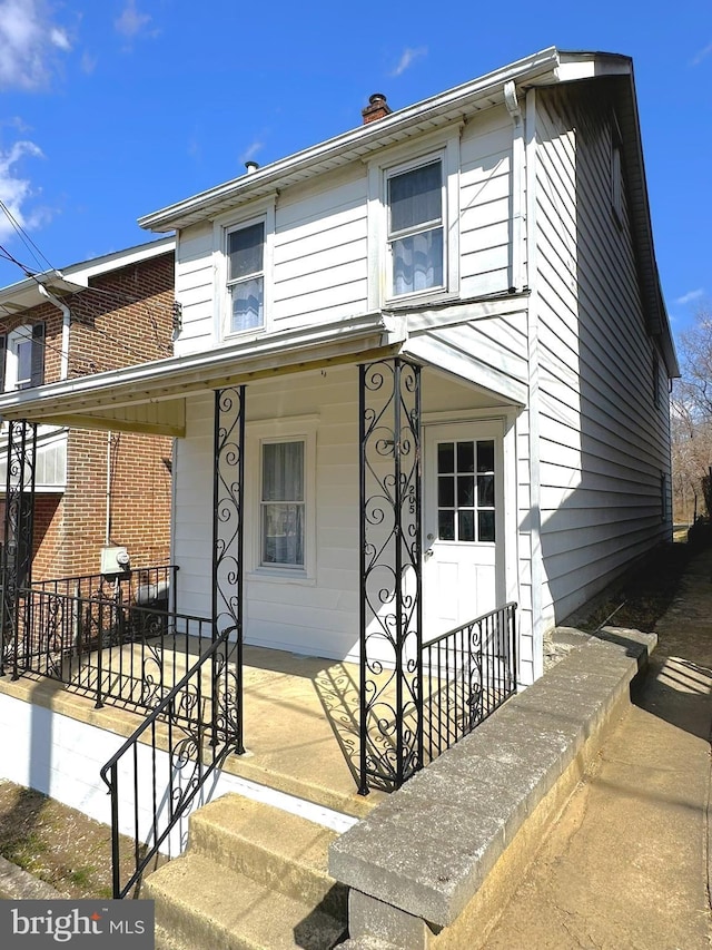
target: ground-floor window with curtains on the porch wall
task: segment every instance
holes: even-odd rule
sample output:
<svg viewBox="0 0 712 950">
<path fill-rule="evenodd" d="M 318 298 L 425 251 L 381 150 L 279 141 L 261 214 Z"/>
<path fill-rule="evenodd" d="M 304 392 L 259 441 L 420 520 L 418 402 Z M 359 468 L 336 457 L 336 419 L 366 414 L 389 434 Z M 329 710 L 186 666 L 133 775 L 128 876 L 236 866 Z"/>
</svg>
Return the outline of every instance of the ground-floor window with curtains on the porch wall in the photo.
<svg viewBox="0 0 712 950">
<path fill-rule="evenodd" d="M 260 566 L 305 566 L 305 442 L 263 442 Z"/>
</svg>

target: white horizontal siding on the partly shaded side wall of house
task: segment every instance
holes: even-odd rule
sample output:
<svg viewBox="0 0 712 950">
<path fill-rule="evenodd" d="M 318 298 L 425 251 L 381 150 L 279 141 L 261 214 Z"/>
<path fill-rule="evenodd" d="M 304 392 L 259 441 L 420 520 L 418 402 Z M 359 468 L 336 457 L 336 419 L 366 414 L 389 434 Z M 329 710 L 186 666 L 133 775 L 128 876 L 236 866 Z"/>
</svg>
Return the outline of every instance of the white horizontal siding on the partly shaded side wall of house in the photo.
<svg viewBox="0 0 712 950">
<path fill-rule="evenodd" d="M 665 413 L 627 226 L 611 214 L 611 114 L 537 94 L 543 613 L 551 625 L 664 530 Z M 572 129 L 575 129 L 573 131 Z M 624 205 L 625 196 L 622 195 Z"/>
</svg>

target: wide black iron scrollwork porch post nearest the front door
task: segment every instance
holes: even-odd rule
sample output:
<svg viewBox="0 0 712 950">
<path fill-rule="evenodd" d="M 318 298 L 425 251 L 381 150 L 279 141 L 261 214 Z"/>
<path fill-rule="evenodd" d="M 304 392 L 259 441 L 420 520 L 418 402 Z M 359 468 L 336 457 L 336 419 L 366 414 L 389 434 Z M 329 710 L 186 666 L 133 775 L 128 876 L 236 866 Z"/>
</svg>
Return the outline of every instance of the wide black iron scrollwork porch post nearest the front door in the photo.
<svg viewBox="0 0 712 950">
<path fill-rule="evenodd" d="M 421 371 L 359 368 L 360 778 L 397 789 L 422 764 Z"/>
</svg>

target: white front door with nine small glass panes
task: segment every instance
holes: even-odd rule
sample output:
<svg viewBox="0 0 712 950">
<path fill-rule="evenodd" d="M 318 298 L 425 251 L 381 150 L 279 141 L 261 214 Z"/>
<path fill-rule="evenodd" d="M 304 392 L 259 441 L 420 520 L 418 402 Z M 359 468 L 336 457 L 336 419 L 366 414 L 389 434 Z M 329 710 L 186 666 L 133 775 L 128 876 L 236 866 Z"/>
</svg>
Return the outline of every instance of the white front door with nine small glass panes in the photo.
<svg viewBox="0 0 712 950">
<path fill-rule="evenodd" d="M 424 640 L 504 603 L 502 429 L 426 427 Z"/>
</svg>

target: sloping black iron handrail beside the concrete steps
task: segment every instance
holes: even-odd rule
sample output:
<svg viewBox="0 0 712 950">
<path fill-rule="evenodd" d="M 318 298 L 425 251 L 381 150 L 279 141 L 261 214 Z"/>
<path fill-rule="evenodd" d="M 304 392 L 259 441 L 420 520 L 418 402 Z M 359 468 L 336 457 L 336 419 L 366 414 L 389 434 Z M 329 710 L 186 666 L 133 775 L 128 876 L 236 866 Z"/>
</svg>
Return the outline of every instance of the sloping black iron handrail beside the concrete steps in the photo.
<svg viewBox="0 0 712 950">
<path fill-rule="evenodd" d="M 101 768 L 111 797 L 115 898 L 140 884 L 226 756 L 245 751 L 241 652 L 237 627 L 220 634 Z M 121 834 L 131 839 L 123 860 Z"/>
</svg>

